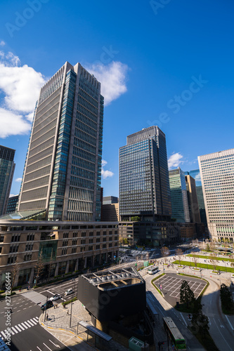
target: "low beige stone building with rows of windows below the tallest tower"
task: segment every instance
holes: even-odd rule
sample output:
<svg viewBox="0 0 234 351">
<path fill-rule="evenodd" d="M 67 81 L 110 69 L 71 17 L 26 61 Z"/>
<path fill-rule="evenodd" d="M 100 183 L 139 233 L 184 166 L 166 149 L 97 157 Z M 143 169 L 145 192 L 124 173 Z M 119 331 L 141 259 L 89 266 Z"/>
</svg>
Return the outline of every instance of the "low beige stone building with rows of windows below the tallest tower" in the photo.
<svg viewBox="0 0 234 351">
<path fill-rule="evenodd" d="M 28 214 L 32 216 L 32 211 L 31 215 Z M 15 286 L 27 282 L 33 284 L 40 253 L 44 272 L 39 282 L 85 267 L 114 262 L 118 256 L 118 223 L 48 222 L 20 219 L 20 216 L 18 213 L 18 219 L 8 215 L 0 220 L 1 289 L 6 284 L 6 272 L 11 272 L 17 258 L 19 272 Z"/>
</svg>

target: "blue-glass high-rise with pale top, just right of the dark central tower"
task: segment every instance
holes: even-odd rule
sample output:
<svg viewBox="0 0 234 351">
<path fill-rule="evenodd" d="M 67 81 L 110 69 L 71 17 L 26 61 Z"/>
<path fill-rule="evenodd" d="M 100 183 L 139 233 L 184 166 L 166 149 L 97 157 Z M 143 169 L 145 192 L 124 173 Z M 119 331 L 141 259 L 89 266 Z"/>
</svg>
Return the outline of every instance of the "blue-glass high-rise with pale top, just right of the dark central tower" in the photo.
<svg viewBox="0 0 234 351">
<path fill-rule="evenodd" d="M 180 167 L 169 171 L 169 183 L 171 189 L 171 217 L 176 218 L 177 222 L 189 223 L 186 177 Z"/>
</svg>

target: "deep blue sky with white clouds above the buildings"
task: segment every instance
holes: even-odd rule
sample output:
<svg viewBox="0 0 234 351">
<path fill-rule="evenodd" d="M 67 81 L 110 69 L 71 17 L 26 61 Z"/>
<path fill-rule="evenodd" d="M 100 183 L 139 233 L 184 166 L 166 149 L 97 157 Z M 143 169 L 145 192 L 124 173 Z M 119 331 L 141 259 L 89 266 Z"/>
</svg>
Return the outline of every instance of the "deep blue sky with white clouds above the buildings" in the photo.
<svg viewBox="0 0 234 351">
<path fill-rule="evenodd" d="M 119 147 L 153 124 L 169 166 L 233 148 L 232 0 L 1 0 L 0 144 L 13 147 L 18 194 L 34 103 L 69 61 L 103 83 L 104 195 L 118 196 Z"/>
</svg>

